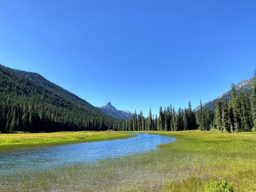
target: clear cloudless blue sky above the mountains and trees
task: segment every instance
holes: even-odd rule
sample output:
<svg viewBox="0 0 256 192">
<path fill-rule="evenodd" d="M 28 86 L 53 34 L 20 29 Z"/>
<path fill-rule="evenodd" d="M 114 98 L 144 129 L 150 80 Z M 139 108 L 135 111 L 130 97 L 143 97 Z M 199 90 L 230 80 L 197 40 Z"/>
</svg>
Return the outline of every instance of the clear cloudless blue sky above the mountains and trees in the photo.
<svg viewBox="0 0 256 192">
<path fill-rule="evenodd" d="M 95 106 L 192 107 L 253 76 L 256 1 L 0 1 L 0 62 Z"/>
</svg>

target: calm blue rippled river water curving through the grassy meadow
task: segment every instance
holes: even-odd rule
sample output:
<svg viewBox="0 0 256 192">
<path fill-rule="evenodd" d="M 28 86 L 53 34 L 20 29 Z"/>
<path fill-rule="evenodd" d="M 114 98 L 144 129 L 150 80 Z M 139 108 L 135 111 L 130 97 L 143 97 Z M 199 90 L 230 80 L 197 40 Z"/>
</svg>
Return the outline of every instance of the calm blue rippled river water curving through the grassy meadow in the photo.
<svg viewBox="0 0 256 192">
<path fill-rule="evenodd" d="M 111 141 L 75 143 L 0 154 L 0 177 L 20 172 L 33 172 L 74 163 L 132 155 L 155 150 L 157 145 L 173 142 L 172 137 L 136 133 L 137 137 Z"/>
</svg>

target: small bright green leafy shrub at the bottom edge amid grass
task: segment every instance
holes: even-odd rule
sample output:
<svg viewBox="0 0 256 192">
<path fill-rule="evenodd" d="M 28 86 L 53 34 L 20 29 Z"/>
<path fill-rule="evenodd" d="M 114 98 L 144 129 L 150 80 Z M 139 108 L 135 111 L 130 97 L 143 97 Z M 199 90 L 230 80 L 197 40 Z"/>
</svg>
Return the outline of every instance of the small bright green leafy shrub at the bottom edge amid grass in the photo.
<svg viewBox="0 0 256 192">
<path fill-rule="evenodd" d="M 205 192 L 233 192 L 233 187 L 225 180 L 210 180 L 205 184 Z"/>
</svg>

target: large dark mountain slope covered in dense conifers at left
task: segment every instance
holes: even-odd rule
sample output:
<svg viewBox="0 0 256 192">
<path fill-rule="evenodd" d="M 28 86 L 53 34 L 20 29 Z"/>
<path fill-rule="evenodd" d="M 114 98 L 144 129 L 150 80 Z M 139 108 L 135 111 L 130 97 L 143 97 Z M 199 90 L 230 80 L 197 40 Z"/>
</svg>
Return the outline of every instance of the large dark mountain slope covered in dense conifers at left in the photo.
<svg viewBox="0 0 256 192">
<path fill-rule="evenodd" d="M 113 118 L 37 73 L 0 65 L 0 132 L 117 130 Z"/>
</svg>

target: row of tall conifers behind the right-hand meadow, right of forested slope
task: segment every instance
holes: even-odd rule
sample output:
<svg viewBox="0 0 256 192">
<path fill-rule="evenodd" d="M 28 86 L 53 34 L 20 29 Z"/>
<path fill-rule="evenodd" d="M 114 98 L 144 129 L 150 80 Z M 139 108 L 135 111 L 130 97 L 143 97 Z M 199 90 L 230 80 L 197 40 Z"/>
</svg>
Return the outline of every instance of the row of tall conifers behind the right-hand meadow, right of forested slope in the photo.
<svg viewBox="0 0 256 192">
<path fill-rule="evenodd" d="M 182 131 L 196 130 L 208 131 L 219 129 L 223 132 L 248 132 L 256 126 L 256 70 L 254 71 L 252 96 L 249 98 L 248 92 L 237 94 L 234 84 L 231 86 L 231 98 L 224 102 L 217 100 L 215 111 L 204 110 L 202 101 L 200 109 L 195 112 L 191 109 L 189 101 L 188 108 L 179 108 L 176 111 L 172 105 L 162 109 L 159 114 L 153 115 L 150 112 L 147 117 L 143 112 L 137 115 L 136 110 L 131 119 L 123 122 L 119 131 Z"/>
</svg>

